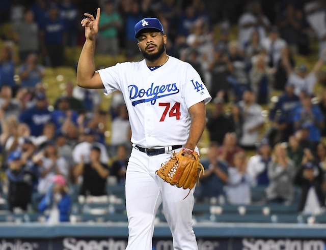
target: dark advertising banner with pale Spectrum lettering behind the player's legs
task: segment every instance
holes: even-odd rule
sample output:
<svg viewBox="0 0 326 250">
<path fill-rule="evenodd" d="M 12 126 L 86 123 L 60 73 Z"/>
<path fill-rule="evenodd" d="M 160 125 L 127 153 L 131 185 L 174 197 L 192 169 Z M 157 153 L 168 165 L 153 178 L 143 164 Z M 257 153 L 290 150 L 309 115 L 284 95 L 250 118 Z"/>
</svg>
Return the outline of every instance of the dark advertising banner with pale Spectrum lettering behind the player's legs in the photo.
<svg viewBox="0 0 326 250">
<path fill-rule="evenodd" d="M 325 239 L 198 238 L 199 250 L 325 250 Z M 125 250 L 125 238 L 1 239 L 0 250 Z M 153 241 L 153 250 L 173 250 L 171 239 Z"/>
</svg>

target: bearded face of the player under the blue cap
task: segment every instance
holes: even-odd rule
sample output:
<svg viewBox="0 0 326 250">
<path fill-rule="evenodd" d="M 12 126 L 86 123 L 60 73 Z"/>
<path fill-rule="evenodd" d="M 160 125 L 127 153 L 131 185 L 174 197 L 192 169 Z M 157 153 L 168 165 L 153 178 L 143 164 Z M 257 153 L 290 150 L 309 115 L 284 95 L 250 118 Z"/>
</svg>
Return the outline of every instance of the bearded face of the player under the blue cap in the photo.
<svg viewBox="0 0 326 250">
<path fill-rule="evenodd" d="M 149 61 L 157 60 L 164 53 L 166 43 L 167 36 L 160 32 L 146 32 L 138 38 L 138 47 Z"/>
</svg>

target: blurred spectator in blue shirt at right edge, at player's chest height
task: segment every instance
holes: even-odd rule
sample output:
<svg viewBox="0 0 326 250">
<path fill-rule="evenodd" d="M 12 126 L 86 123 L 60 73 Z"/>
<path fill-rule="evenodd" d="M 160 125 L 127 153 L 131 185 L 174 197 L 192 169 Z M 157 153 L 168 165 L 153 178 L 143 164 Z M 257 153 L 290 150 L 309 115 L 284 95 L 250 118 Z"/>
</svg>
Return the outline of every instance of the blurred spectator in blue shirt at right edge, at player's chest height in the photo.
<svg viewBox="0 0 326 250">
<path fill-rule="evenodd" d="M 309 130 L 308 139 L 317 146 L 321 139 L 321 129 L 324 126 L 323 115 L 317 105 L 313 105 L 311 97 L 303 94 L 301 97 L 301 105 L 294 111 L 294 126 L 296 129 L 305 126 Z"/>
</svg>

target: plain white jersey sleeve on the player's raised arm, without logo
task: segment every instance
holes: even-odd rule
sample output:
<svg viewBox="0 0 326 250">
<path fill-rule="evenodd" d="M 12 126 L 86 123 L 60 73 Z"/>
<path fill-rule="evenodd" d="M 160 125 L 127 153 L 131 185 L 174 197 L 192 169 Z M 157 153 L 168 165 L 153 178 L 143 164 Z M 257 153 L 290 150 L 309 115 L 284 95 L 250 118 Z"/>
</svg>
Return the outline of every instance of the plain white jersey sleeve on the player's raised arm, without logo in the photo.
<svg viewBox="0 0 326 250">
<path fill-rule="evenodd" d="M 112 93 L 116 90 L 121 90 L 120 88 L 120 74 L 121 74 L 121 64 L 116 64 L 105 69 L 98 70 L 103 86 L 102 89 L 105 95 Z"/>
</svg>

